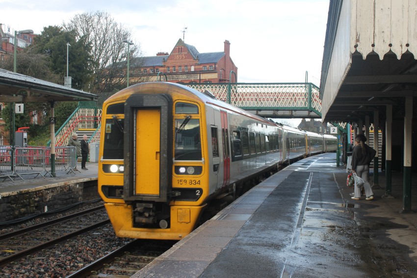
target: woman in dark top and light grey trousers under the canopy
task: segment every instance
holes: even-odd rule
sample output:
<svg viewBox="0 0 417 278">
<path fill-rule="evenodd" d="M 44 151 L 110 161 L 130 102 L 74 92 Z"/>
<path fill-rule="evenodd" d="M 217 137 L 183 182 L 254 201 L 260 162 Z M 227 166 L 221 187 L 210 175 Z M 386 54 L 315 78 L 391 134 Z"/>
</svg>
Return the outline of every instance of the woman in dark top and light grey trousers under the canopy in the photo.
<svg viewBox="0 0 417 278">
<path fill-rule="evenodd" d="M 353 148 L 352 152 L 352 172 L 356 173 L 358 177 L 361 177 L 365 183 L 365 195 L 366 200 L 373 199 L 373 192 L 371 189 L 371 185 L 368 182 L 368 175 L 369 175 L 369 164 L 375 157 L 376 151 L 369 147 L 366 142 L 366 137 L 363 134 L 358 134 L 355 138 L 355 147 Z M 374 173 L 377 175 L 378 172 Z M 352 197 L 354 200 L 361 199 L 361 187 L 357 187 L 355 185 L 355 195 Z"/>
</svg>

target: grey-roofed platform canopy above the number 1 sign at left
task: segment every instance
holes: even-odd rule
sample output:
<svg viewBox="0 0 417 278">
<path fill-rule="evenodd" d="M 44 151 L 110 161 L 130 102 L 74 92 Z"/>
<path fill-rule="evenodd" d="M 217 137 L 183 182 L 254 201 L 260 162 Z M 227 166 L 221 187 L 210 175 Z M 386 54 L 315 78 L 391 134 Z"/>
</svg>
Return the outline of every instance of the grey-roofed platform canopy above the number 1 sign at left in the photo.
<svg viewBox="0 0 417 278">
<path fill-rule="evenodd" d="M 0 102 L 97 101 L 98 96 L 0 69 Z"/>
</svg>

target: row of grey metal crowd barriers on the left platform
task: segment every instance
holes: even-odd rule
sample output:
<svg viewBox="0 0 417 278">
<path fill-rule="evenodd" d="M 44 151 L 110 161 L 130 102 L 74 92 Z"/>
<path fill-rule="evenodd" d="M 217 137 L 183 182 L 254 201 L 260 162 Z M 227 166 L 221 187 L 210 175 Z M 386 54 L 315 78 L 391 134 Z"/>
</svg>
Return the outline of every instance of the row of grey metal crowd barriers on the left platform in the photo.
<svg viewBox="0 0 417 278">
<path fill-rule="evenodd" d="M 74 172 L 76 168 L 76 148 L 74 146 L 55 147 L 55 171 Z M 24 175 L 50 175 L 52 171 L 50 147 L 0 146 L 0 178 L 5 181 Z"/>
</svg>

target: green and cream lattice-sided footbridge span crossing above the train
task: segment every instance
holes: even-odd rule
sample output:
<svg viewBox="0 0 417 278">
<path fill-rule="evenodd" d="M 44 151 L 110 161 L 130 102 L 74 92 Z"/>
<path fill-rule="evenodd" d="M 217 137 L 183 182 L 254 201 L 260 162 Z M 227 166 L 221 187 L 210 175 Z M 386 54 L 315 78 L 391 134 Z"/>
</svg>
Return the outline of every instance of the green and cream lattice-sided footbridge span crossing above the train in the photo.
<svg viewBox="0 0 417 278">
<path fill-rule="evenodd" d="M 188 83 L 200 92 L 262 117 L 321 118 L 320 88 L 313 83 Z"/>
</svg>

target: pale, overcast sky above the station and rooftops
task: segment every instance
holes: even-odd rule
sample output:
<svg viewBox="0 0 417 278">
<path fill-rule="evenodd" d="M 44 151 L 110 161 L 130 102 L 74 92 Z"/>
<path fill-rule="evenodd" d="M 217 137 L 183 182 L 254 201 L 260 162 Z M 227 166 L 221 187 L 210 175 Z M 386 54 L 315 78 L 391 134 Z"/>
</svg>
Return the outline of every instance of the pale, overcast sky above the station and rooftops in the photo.
<svg viewBox="0 0 417 278">
<path fill-rule="evenodd" d="M 0 0 L 0 23 L 40 34 L 106 11 L 145 56 L 170 53 L 183 35 L 200 53 L 223 52 L 228 40 L 237 82 L 304 83 L 307 72 L 319 86 L 328 10 L 329 0 Z"/>
</svg>

